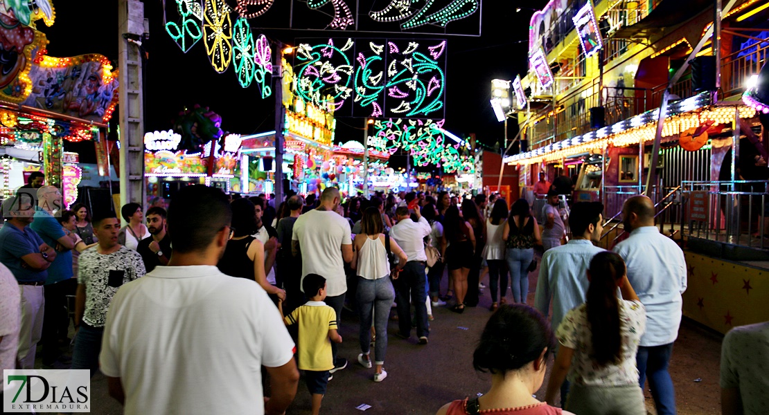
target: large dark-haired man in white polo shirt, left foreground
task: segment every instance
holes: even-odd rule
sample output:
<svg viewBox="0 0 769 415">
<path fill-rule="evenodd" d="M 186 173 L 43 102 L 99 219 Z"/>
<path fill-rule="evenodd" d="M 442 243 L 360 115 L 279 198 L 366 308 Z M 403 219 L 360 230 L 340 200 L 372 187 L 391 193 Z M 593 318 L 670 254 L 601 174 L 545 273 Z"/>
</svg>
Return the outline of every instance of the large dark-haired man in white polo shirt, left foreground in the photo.
<svg viewBox="0 0 769 415">
<path fill-rule="evenodd" d="M 168 209 L 168 266 L 115 294 L 99 363 L 125 413 L 277 414 L 294 399 L 294 342 L 278 309 L 260 285 L 216 268 L 231 219 L 221 190 L 181 189 Z"/>
</svg>

